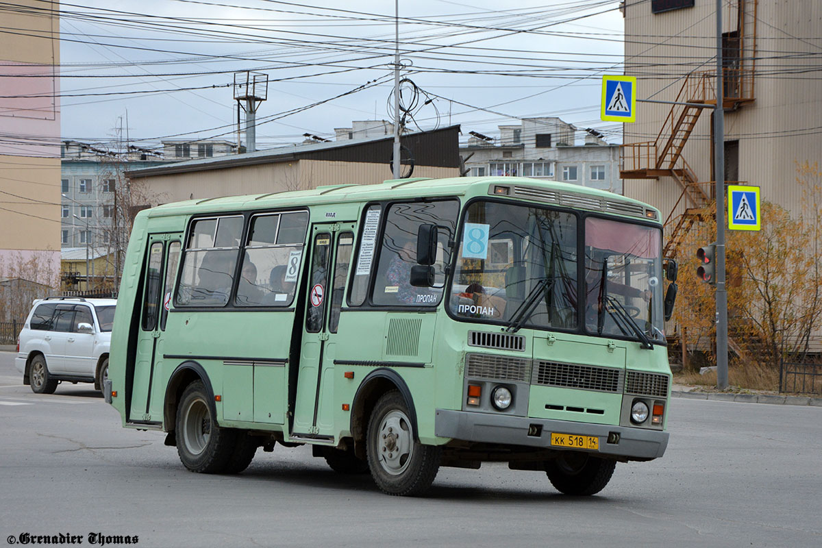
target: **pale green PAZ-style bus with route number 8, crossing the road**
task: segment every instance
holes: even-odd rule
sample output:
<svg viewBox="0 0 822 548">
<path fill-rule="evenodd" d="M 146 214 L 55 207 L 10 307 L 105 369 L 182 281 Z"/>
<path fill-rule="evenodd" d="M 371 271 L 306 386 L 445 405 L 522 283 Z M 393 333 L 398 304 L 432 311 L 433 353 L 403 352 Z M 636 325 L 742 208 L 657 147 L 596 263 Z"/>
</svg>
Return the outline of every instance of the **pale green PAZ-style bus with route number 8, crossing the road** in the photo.
<svg viewBox="0 0 822 548">
<path fill-rule="evenodd" d="M 483 462 L 593 495 L 667 446 L 662 239 L 640 201 L 519 177 L 161 205 L 134 223 L 106 398 L 194 472 L 312 444 L 390 495 Z"/>
</svg>

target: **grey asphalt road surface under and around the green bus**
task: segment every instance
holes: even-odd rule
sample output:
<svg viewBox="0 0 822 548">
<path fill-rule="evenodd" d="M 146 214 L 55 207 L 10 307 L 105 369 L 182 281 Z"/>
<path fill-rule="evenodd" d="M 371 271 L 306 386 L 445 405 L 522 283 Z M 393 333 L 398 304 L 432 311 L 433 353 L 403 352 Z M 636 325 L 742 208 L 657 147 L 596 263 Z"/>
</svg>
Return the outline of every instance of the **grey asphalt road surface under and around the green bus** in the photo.
<svg viewBox="0 0 822 548">
<path fill-rule="evenodd" d="M 164 435 L 120 426 L 90 385 L 22 386 L 0 352 L 0 543 L 137 536 L 138 546 L 822 546 L 822 408 L 675 398 L 667 453 L 593 497 L 504 464 L 441 468 L 382 495 L 305 447 L 235 477 L 187 472 Z M 18 542 L 19 544 L 19 542 Z M 106 545 L 117 546 L 117 545 Z"/>
</svg>

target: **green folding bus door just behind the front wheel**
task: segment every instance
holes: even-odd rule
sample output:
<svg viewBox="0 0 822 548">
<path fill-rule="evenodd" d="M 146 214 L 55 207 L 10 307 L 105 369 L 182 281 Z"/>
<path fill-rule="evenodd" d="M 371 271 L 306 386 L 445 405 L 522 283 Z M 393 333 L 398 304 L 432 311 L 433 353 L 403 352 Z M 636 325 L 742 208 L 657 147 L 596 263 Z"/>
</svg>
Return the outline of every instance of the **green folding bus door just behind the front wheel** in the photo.
<svg viewBox="0 0 822 548">
<path fill-rule="evenodd" d="M 294 435 L 332 437 L 339 311 L 353 249 L 353 223 L 315 224 L 294 404 Z"/>
</svg>

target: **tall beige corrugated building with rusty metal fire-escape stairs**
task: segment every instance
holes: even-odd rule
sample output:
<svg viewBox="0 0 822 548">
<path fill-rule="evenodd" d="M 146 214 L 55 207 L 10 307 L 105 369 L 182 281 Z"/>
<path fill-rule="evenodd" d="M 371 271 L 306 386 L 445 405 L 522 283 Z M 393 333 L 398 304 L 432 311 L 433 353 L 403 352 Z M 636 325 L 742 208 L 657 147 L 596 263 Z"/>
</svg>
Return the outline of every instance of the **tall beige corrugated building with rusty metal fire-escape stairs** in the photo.
<svg viewBox="0 0 822 548">
<path fill-rule="evenodd" d="M 822 0 L 723 4 L 725 179 L 759 186 L 763 200 L 796 214 L 796 163 L 822 163 Z M 638 99 L 716 104 L 715 7 L 626 2 L 626 74 L 638 77 Z M 624 127 L 625 195 L 663 211 L 668 256 L 713 198 L 712 110 L 639 103 Z"/>
</svg>

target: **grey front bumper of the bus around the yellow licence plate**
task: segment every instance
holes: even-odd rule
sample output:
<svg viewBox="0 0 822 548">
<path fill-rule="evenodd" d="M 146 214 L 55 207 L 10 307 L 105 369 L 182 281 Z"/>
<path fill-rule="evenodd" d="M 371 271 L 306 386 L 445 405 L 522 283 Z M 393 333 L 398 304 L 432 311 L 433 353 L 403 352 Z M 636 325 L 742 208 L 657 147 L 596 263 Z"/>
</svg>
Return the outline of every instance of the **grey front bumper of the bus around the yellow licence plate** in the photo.
<svg viewBox="0 0 822 548">
<path fill-rule="evenodd" d="M 535 428 L 540 426 L 541 428 Z M 529 435 L 529 431 L 539 431 Z M 553 421 L 529 417 L 511 417 L 493 413 L 437 409 L 434 433 L 443 438 L 504 445 L 524 445 L 546 449 L 552 446 L 551 433 L 594 435 L 599 450 L 591 453 L 625 458 L 658 458 L 667 448 L 668 433 L 626 426 L 589 424 L 587 422 Z M 607 443 L 609 434 L 618 434 L 617 443 Z M 615 436 L 611 436 L 612 439 Z"/>
</svg>

